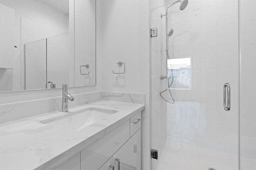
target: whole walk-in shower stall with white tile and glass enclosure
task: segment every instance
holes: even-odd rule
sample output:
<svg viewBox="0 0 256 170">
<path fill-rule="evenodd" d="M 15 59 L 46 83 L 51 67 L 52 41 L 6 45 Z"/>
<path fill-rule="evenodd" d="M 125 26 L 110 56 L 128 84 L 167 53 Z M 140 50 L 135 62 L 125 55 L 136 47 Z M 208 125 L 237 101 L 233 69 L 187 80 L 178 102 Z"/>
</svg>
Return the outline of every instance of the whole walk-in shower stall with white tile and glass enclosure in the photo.
<svg viewBox="0 0 256 170">
<path fill-rule="evenodd" d="M 171 2 L 150 11 L 151 169 L 255 170 L 256 1 Z"/>
</svg>

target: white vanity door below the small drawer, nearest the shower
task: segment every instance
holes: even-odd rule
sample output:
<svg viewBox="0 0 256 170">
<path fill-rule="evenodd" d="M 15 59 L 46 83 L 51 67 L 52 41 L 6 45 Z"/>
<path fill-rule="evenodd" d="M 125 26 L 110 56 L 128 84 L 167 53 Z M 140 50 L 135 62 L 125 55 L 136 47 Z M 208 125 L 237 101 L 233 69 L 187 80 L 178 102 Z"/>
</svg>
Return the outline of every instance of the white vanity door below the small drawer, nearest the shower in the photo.
<svg viewBox="0 0 256 170">
<path fill-rule="evenodd" d="M 116 154 L 115 170 L 141 169 L 141 134 L 140 129 L 122 146 Z M 118 168 L 118 163 L 120 168 Z"/>
</svg>

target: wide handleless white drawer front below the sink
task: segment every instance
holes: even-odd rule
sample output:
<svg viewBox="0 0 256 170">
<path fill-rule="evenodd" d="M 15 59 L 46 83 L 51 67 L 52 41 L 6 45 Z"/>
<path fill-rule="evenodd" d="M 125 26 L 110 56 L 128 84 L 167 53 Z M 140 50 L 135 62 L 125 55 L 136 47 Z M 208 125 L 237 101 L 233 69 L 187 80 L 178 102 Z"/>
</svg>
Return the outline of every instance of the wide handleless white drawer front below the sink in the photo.
<svg viewBox="0 0 256 170">
<path fill-rule="evenodd" d="M 81 170 L 98 170 L 130 138 L 130 121 L 81 151 Z"/>
</svg>

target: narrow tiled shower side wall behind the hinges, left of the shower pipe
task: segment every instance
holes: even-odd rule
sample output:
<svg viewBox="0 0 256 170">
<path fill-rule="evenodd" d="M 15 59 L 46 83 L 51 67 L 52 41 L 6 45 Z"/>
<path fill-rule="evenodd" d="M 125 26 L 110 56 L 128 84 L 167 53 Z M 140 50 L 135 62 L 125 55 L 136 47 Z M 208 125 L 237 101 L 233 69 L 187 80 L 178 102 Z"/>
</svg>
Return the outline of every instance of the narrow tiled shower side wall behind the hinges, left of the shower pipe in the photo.
<svg viewBox="0 0 256 170">
<path fill-rule="evenodd" d="M 166 87 L 166 79 L 160 81 L 160 75 L 167 72 L 165 54 L 165 20 L 161 20 L 160 14 L 164 8 L 156 8 L 151 12 L 151 28 L 158 28 L 158 36 L 151 39 L 151 95 L 150 95 L 150 147 L 162 153 L 166 141 L 166 109 L 167 103 L 162 100 L 159 93 Z M 159 160 L 159 159 L 158 159 Z M 152 159 L 152 169 L 155 170 L 158 160 Z"/>
</svg>

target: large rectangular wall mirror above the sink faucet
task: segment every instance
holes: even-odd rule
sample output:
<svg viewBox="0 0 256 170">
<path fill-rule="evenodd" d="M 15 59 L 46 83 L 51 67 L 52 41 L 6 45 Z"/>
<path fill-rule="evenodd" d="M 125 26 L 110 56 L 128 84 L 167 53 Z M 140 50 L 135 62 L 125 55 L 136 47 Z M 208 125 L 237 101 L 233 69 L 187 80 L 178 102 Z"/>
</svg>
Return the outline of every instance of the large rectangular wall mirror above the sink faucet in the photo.
<svg viewBox="0 0 256 170">
<path fill-rule="evenodd" d="M 96 85 L 95 0 L 0 0 L 0 91 Z"/>
</svg>

